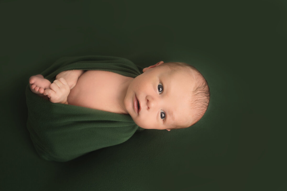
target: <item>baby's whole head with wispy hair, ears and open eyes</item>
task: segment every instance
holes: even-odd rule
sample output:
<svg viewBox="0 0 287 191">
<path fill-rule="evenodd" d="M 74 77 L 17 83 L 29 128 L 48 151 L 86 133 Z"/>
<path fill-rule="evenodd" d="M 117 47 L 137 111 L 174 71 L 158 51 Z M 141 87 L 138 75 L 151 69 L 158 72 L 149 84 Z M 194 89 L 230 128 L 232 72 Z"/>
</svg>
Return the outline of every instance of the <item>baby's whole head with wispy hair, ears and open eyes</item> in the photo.
<svg viewBox="0 0 287 191">
<path fill-rule="evenodd" d="M 143 69 L 128 87 L 124 103 L 144 129 L 182 129 L 197 123 L 208 108 L 203 75 L 183 62 L 158 62 Z"/>
</svg>

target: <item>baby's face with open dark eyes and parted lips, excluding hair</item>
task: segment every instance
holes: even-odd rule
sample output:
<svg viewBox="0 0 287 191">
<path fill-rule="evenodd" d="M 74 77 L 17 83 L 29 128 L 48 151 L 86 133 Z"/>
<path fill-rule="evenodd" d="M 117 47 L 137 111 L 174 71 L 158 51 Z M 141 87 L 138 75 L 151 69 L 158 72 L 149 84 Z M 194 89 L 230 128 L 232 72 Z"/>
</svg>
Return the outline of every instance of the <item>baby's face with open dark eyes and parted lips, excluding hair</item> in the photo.
<svg viewBox="0 0 287 191">
<path fill-rule="evenodd" d="M 189 100 L 195 79 L 187 71 L 190 72 L 189 69 L 175 72 L 169 66 L 156 66 L 131 81 L 124 105 L 139 127 L 171 129 L 193 122 Z"/>
</svg>

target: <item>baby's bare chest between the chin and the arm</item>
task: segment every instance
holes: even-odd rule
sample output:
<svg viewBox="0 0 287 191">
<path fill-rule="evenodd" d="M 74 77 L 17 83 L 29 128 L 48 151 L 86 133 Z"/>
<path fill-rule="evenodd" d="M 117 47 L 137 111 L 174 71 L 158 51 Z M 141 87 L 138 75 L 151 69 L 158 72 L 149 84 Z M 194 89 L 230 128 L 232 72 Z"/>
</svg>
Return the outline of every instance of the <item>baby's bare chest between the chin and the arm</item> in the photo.
<svg viewBox="0 0 287 191">
<path fill-rule="evenodd" d="M 88 70 L 79 77 L 68 96 L 70 105 L 121 113 L 121 84 L 129 77 L 108 71 Z"/>
</svg>

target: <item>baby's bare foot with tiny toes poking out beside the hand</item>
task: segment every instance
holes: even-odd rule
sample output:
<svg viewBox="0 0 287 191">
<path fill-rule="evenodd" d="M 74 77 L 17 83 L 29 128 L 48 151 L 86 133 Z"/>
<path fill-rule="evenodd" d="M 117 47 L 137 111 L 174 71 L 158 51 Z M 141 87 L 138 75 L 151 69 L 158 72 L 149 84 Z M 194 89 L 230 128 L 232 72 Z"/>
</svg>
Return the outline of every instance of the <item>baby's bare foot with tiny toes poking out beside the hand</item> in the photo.
<svg viewBox="0 0 287 191">
<path fill-rule="evenodd" d="M 45 89 L 49 89 L 51 82 L 44 78 L 41 74 L 31 76 L 29 78 L 30 89 L 35 94 L 44 93 Z"/>
</svg>

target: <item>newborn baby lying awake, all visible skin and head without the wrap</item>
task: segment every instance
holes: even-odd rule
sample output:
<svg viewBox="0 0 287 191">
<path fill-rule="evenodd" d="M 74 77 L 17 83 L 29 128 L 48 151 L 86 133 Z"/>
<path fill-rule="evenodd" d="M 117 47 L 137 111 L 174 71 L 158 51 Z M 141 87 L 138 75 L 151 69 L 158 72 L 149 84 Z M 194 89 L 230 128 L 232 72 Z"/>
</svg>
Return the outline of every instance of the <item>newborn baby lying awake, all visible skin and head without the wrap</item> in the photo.
<svg viewBox="0 0 287 191">
<path fill-rule="evenodd" d="M 128 114 L 144 129 L 194 125 L 208 108 L 210 91 L 202 74 L 181 62 L 160 61 L 135 78 L 102 70 L 66 70 L 51 83 L 31 76 L 30 89 L 53 103 Z"/>
</svg>

